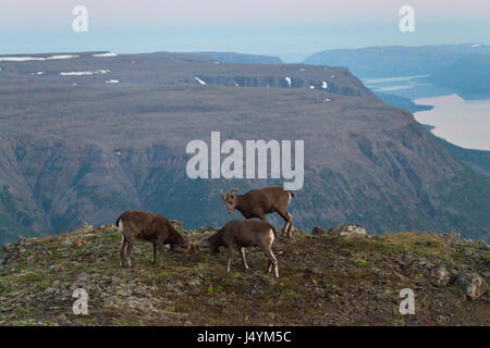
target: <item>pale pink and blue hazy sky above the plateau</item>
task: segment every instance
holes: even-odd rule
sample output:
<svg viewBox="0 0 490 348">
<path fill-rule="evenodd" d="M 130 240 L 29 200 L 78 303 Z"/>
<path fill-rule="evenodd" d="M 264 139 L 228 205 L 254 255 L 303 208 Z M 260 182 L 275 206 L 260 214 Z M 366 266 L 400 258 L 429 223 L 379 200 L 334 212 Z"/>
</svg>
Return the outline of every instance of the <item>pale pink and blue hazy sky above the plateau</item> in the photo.
<svg viewBox="0 0 490 348">
<path fill-rule="evenodd" d="M 74 33 L 72 10 L 88 9 Z M 415 10 L 415 33 L 399 10 Z M 237 51 L 301 61 L 332 48 L 490 44 L 487 0 L 1 0 L 0 53 Z"/>
</svg>

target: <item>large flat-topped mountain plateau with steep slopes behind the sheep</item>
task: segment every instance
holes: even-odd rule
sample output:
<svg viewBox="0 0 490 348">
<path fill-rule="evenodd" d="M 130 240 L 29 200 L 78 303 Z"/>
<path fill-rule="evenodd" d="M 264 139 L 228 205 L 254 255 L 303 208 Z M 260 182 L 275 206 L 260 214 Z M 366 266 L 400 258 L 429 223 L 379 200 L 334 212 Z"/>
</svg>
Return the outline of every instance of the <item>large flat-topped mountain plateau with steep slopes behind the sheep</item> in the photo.
<svg viewBox="0 0 490 348">
<path fill-rule="evenodd" d="M 106 73 L 60 75 L 97 70 Z M 186 144 L 209 144 L 212 130 L 222 141 L 305 140 L 297 227 L 347 221 L 377 233 L 489 236 L 488 176 L 346 69 L 79 53 L 3 62 L 0 80 L 0 243 L 113 223 L 126 209 L 219 226 L 230 219 L 220 188 L 282 185 L 189 179 Z"/>
</svg>

